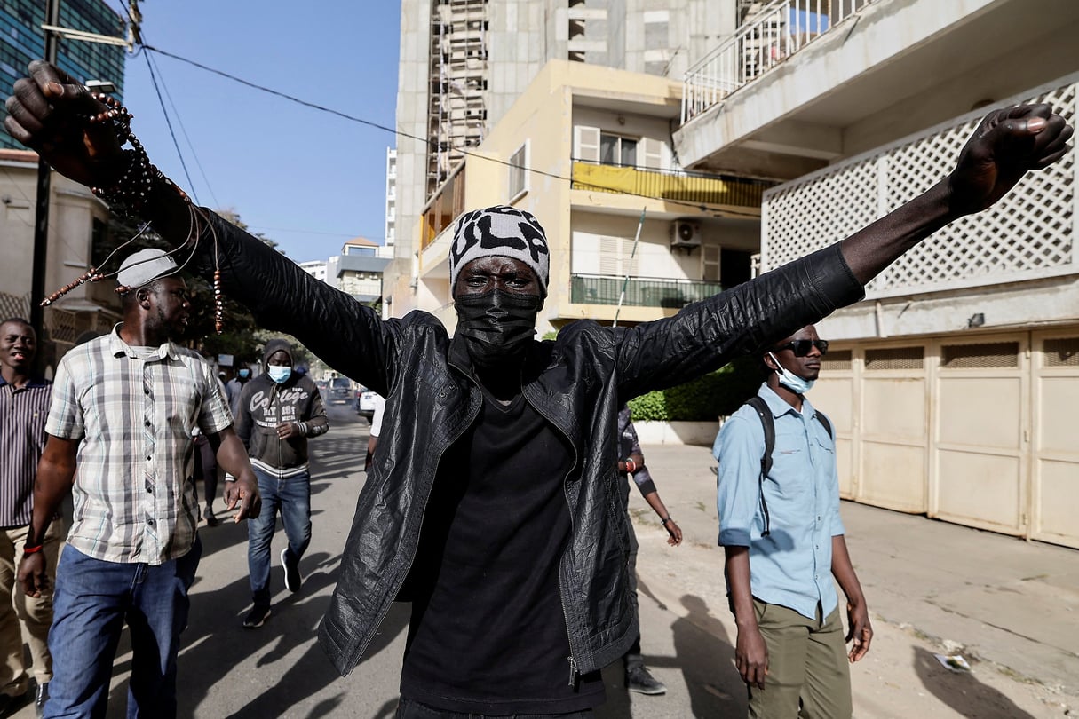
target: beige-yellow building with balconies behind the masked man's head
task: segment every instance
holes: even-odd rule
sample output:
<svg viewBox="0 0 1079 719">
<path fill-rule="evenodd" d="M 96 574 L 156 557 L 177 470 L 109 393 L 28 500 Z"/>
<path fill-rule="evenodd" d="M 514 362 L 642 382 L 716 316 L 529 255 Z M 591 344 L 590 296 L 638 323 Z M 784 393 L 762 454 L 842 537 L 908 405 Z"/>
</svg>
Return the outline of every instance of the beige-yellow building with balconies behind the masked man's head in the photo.
<svg viewBox="0 0 1079 719">
<path fill-rule="evenodd" d="M 720 291 L 721 278 L 748 279 L 770 183 L 677 167 L 679 108 L 674 81 L 549 63 L 421 213 L 416 306 L 453 328 L 453 221 L 496 204 L 534 213 L 547 232 L 541 333 L 671 316 Z"/>
</svg>

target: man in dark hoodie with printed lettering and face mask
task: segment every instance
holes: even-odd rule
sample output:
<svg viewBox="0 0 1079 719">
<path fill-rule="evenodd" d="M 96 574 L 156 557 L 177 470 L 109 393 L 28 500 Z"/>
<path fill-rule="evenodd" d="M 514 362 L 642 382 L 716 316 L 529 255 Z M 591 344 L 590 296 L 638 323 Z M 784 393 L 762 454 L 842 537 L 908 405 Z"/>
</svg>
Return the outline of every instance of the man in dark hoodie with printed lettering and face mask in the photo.
<svg viewBox="0 0 1079 719">
<path fill-rule="evenodd" d="M 300 557 L 311 543 L 311 474 L 308 438 L 329 429 L 318 387 L 292 370 L 292 346 L 271 340 L 262 357 L 265 372 L 240 395 L 236 433 L 247 447 L 259 482 L 262 512 L 247 524 L 247 567 L 254 607 L 244 626 L 262 626 L 270 616 L 270 543 L 281 511 L 288 545 L 281 552 L 285 586 L 300 589 Z"/>
</svg>

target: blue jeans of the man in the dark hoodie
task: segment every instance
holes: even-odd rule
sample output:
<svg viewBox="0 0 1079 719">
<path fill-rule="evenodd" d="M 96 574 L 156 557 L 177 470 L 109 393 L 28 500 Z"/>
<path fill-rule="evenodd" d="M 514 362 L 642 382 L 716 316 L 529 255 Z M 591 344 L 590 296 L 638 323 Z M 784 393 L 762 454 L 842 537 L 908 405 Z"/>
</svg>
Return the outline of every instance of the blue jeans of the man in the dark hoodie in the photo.
<svg viewBox="0 0 1079 719">
<path fill-rule="evenodd" d="M 262 511 L 247 520 L 247 570 L 251 598 L 257 606 L 270 606 L 270 542 L 277 527 L 277 510 L 288 537 L 288 552 L 300 561 L 311 543 L 311 475 L 308 472 L 284 480 L 255 469 L 262 496 Z"/>
</svg>

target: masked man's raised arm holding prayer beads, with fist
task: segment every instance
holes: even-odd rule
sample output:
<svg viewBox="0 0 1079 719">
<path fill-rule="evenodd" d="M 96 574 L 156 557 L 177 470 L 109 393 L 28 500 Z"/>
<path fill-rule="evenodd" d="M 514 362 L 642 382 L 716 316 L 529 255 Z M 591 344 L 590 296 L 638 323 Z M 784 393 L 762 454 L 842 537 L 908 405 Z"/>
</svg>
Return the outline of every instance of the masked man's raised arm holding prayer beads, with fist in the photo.
<svg viewBox="0 0 1079 719">
<path fill-rule="evenodd" d="M 4 127 L 12 137 L 76 182 L 134 190 L 141 170 L 133 169 L 137 177 L 125 179 L 133 151 L 121 148 L 112 121 L 90 121 L 108 108 L 47 63 L 35 60 L 29 71 L 29 78 L 15 82 L 6 101 Z M 315 280 L 213 212 L 194 208 L 170 182 L 151 181 L 137 213 L 176 247 L 197 237 L 190 268 L 209 279 L 219 264 L 224 292 L 246 305 L 261 326 L 295 335 L 334 369 L 388 391 L 392 341 L 378 313 Z M 364 351 L 355 351 L 357 347 Z"/>
</svg>

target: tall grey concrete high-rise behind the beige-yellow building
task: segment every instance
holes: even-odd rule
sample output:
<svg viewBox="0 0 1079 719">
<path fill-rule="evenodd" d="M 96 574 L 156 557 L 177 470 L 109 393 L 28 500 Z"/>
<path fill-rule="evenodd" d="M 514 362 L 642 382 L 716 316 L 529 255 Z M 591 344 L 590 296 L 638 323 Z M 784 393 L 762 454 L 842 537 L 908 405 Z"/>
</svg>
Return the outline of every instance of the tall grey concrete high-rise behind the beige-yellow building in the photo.
<svg viewBox="0 0 1079 719">
<path fill-rule="evenodd" d="M 680 78 L 738 13 L 714 0 L 402 0 L 387 296 L 414 280 L 424 206 L 549 60 Z"/>
</svg>

